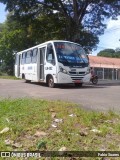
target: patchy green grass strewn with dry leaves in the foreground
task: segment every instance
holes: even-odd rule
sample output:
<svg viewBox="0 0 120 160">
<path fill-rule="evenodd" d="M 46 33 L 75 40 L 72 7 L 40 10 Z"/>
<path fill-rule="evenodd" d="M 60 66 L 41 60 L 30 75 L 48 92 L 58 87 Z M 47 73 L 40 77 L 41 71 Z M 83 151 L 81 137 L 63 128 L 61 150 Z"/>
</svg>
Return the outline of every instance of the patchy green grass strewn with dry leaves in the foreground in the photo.
<svg viewBox="0 0 120 160">
<path fill-rule="evenodd" d="M 73 117 L 69 116 L 71 114 Z M 51 124 L 56 118 L 62 122 L 53 128 Z M 0 134 L 1 151 L 58 151 L 63 146 L 68 151 L 120 151 L 120 116 L 113 112 L 85 111 L 76 104 L 3 99 L 0 101 L 0 131 L 5 127 L 9 127 L 9 131 Z M 93 129 L 99 132 L 93 132 Z M 36 132 L 46 135 L 35 136 Z M 6 145 L 5 140 L 22 147 L 15 147 L 12 143 Z M 41 143 L 46 147 L 40 147 Z"/>
</svg>

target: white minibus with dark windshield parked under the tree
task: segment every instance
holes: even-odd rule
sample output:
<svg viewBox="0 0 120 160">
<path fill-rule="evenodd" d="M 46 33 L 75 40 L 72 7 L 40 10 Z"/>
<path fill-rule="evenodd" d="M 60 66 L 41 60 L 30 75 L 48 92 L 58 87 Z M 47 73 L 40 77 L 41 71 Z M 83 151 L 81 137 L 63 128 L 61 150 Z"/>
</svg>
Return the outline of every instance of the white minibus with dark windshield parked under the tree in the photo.
<svg viewBox="0 0 120 160">
<path fill-rule="evenodd" d="M 26 82 L 82 86 L 90 81 L 88 56 L 77 43 L 52 40 L 16 53 L 15 76 Z"/>
</svg>

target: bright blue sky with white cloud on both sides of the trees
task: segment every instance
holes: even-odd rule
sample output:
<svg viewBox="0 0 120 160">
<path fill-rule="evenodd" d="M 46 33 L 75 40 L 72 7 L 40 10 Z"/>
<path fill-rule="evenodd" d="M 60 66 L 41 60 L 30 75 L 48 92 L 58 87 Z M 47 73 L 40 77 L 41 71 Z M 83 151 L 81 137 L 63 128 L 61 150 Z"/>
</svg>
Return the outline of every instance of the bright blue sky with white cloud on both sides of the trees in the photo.
<svg viewBox="0 0 120 160">
<path fill-rule="evenodd" d="M 5 5 L 0 3 L 0 23 L 3 23 L 6 19 L 7 13 L 5 12 Z M 120 48 L 120 16 L 118 20 L 107 21 L 107 28 L 104 32 L 104 35 L 99 37 L 99 44 L 97 50 L 92 51 L 92 55 L 96 56 L 99 51 L 104 49 L 116 49 Z"/>
</svg>

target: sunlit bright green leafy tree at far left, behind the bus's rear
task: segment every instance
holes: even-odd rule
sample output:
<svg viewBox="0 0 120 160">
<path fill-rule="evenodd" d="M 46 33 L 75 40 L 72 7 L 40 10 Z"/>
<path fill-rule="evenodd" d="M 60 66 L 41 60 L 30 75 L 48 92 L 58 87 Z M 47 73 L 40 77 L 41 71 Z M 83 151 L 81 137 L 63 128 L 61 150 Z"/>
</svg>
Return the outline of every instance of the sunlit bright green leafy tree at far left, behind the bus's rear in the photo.
<svg viewBox="0 0 120 160">
<path fill-rule="evenodd" d="M 4 65 L 3 71 L 8 74 L 14 72 L 14 52 L 31 46 L 30 41 L 27 41 L 26 28 L 19 25 L 8 15 L 0 32 L 0 61 Z"/>
</svg>

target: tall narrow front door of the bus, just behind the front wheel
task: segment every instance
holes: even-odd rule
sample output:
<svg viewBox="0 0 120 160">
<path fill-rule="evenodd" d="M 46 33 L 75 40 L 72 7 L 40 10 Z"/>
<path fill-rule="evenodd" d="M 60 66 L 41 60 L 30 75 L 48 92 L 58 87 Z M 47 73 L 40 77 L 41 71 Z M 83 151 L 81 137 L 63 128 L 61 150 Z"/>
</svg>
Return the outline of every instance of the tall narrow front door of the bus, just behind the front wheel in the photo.
<svg viewBox="0 0 120 160">
<path fill-rule="evenodd" d="M 38 80 L 44 80 L 44 60 L 45 60 L 45 50 L 46 47 L 39 48 L 39 58 L 38 58 Z"/>
</svg>

